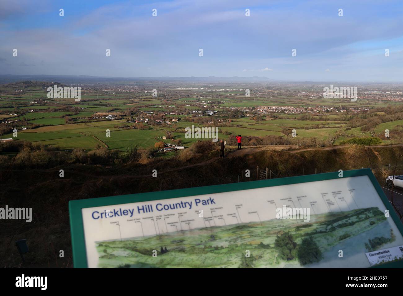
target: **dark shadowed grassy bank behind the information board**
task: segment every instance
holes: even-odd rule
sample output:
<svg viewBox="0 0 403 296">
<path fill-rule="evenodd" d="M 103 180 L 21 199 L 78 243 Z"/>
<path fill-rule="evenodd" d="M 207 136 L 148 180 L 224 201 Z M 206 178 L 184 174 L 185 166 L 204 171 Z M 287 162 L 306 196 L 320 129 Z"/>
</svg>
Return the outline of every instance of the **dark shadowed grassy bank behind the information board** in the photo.
<svg viewBox="0 0 403 296">
<path fill-rule="evenodd" d="M 46 168 L 35 165 L 24 168 L 20 162 L 3 167 L 1 205 L 32 208 L 33 217 L 29 223 L 0 220 L 1 267 L 72 267 L 69 200 L 254 181 L 256 166 L 268 167 L 279 177 L 314 174 L 315 169 L 317 173 L 325 173 L 371 167 L 383 184 L 395 165 L 396 174 L 401 173 L 403 154 L 401 147 L 350 146 L 298 153 L 261 151 L 219 159 L 214 147 L 202 147 L 197 154 L 189 151 L 186 157 L 143 163 L 138 157 L 129 163 L 67 162 L 46 164 Z M 59 177 L 60 169 L 64 170 L 64 177 Z M 157 177 L 151 176 L 154 169 Z M 250 170 L 251 177 L 245 177 L 245 169 Z M 25 264 L 15 247 L 15 240 L 21 238 L 26 238 L 29 246 Z M 63 258 L 59 257 L 60 250 L 64 251 Z"/>
</svg>

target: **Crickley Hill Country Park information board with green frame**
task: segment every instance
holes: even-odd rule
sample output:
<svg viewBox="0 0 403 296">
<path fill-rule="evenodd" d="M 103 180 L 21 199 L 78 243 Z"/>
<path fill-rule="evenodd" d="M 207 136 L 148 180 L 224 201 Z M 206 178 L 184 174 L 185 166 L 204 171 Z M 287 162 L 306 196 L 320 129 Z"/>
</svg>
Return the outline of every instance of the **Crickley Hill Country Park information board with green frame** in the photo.
<svg viewBox="0 0 403 296">
<path fill-rule="evenodd" d="M 75 267 L 401 267 L 369 169 L 70 201 Z"/>
</svg>

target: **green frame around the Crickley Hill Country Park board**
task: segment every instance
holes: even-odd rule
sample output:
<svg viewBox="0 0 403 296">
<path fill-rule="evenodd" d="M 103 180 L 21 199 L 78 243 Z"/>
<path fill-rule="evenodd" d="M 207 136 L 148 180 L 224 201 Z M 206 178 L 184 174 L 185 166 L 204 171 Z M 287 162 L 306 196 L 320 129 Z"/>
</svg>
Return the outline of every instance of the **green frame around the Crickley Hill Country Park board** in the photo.
<svg viewBox="0 0 403 296">
<path fill-rule="evenodd" d="M 380 196 L 382 202 L 384 203 L 387 210 L 389 210 L 390 218 L 393 219 L 397 228 L 403 236 L 403 224 L 400 222 L 397 214 L 393 210 L 391 203 L 388 201 L 385 193 L 380 187 L 378 181 L 376 180 L 374 174 L 370 169 L 358 169 L 351 171 L 343 171 L 343 178 L 346 177 L 357 177 L 357 176 L 368 176 L 374 185 L 378 195 Z M 142 201 L 152 201 L 159 199 L 168 199 L 176 197 L 186 197 L 193 195 L 203 195 L 212 194 L 228 191 L 237 191 L 245 189 L 255 189 L 262 187 L 272 187 L 280 185 L 289 185 L 296 183 L 308 183 L 315 181 L 324 181 L 339 179 L 339 172 L 334 173 L 322 173 L 315 175 L 304 175 L 296 177 L 285 177 L 278 179 L 269 179 L 261 181 L 249 181 L 241 183 L 230 183 L 222 185 L 211 185 L 204 187 L 192 187 L 185 189 L 174 189 L 165 191 L 154 191 L 146 193 L 128 194 L 128 195 L 116 195 L 109 197 L 98 197 L 89 199 L 79 199 L 69 201 L 69 212 L 70 212 L 70 228 L 71 228 L 71 243 L 73 249 L 73 264 L 75 268 L 87 268 L 87 252 L 85 249 L 85 236 L 84 236 L 84 225 L 83 216 L 81 209 L 83 208 L 93 208 L 99 206 L 111 206 L 123 203 L 133 203 Z M 164 197 L 165 196 L 165 197 Z M 403 260 L 391 263 L 384 263 L 382 265 L 377 265 L 370 268 L 403 268 Z"/>
</svg>

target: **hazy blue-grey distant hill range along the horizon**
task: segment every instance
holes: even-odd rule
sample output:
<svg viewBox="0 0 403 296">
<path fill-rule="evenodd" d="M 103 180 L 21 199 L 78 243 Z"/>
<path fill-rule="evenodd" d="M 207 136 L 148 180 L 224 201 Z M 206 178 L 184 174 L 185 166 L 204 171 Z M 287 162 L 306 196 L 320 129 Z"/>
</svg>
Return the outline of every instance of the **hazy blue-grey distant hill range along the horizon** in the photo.
<svg viewBox="0 0 403 296">
<path fill-rule="evenodd" d="M 65 84 L 69 83 L 96 83 L 96 82 L 115 82 L 115 83 L 128 83 L 128 82 L 264 82 L 270 81 L 267 77 L 253 76 L 253 77 L 97 77 L 97 76 L 64 76 L 64 75 L 0 75 L 0 84 L 11 82 L 19 82 L 24 80 L 33 81 L 57 81 Z"/>
</svg>

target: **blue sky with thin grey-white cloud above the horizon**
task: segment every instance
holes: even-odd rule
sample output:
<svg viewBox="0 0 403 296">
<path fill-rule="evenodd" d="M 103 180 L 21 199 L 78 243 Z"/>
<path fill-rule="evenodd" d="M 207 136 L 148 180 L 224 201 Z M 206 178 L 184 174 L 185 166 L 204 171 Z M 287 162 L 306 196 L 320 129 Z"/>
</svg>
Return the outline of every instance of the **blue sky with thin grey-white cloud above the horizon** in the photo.
<svg viewBox="0 0 403 296">
<path fill-rule="evenodd" d="M 402 28 L 401 0 L 1 0 L 0 74 L 401 82 Z"/>
</svg>

